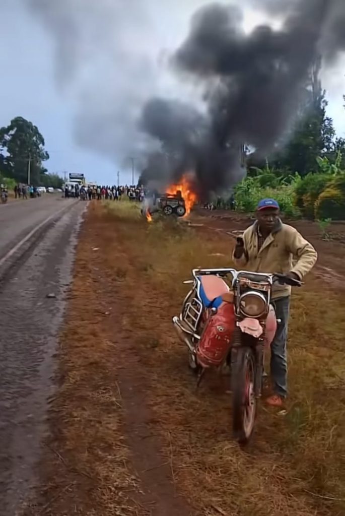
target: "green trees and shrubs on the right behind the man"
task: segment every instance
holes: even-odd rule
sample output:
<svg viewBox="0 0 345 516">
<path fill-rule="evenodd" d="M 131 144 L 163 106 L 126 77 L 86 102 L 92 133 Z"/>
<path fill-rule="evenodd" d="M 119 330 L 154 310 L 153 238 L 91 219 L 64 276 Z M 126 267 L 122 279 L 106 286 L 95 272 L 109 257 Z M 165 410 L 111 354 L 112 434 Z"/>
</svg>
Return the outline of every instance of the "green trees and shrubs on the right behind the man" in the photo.
<svg viewBox="0 0 345 516">
<path fill-rule="evenodd" d="M 301 106 L 305 115 L 287 143 L 266 158 L 260 149 L 248 156 L 247 178 L 235 187 L 237 209 L 251 212 L 260 198 L 273 197 L 289 217 L 345 219 L 345 140 L 326 117 L 319 68 L 316 62 Z"/>
</svg>

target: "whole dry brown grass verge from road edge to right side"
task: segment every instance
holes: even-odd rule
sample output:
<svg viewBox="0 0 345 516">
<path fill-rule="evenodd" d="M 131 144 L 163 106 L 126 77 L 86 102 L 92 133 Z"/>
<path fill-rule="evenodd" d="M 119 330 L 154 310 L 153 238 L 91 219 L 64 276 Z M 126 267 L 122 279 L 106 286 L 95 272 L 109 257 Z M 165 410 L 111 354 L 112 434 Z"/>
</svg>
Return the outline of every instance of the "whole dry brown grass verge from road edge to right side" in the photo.
<svg viewBox="0 0 345 516">
<path fill-rule="evenodd" d="M 151 513 L 136 496 L 151 472 L 134 474 L 140 449 L 131 449 L 123 426 L 123 404 L 143 390 L 149 431 L 162 442 L 154 466 L 169 464 L 177 492 L 198 516 L 345 514 L 341 296 L 313 276 L 295 294 L 287 415 L 262 406 L 247 449 L 232 441 L 222 380 L 210 376 L 195 389 L 171 316 L 191 268 L 229 265 L 231 247 L 228 237 L 195 232 L 185 221 L 148 224 L 136 204 L 91 203 L 61 338 L 61 388 L 47 441 L 54 451 L 42 464 L 41 502 L 27 516 Z M 121 396 L 118 378 L 133 364 L 133 392 Z"/>
</svg>

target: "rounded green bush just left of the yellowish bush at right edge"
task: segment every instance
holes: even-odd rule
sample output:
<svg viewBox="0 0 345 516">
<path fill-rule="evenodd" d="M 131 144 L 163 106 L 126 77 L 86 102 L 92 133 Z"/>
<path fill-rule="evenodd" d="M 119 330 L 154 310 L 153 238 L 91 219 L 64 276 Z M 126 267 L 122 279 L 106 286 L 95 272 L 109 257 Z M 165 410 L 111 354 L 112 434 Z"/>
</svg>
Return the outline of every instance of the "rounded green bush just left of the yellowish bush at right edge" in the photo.
<svg viewBox="0 0 345 516">
<path fill-rule="evenodd" d="M 315 203 L 330 181 L 330 174 L 310 172 L 295 185 L 295 203 L 303 217 L 314 219 Z"/>
</svg>

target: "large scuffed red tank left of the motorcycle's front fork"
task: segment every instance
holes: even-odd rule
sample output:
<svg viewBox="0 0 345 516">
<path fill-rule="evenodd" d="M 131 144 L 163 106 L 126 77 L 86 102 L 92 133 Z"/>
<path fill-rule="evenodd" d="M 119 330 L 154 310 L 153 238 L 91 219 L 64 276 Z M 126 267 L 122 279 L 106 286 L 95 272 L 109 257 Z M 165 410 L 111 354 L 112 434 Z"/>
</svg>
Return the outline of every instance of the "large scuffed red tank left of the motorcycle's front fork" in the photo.
<svg viewBox="0 0 345 516">
<path fill-rule="evenodd" d="M 235 330 L 234 304 L 222 302 L 206 321 L 196 357 L 203 367 L 221 365 L 231 346 Z"/>
</svg>

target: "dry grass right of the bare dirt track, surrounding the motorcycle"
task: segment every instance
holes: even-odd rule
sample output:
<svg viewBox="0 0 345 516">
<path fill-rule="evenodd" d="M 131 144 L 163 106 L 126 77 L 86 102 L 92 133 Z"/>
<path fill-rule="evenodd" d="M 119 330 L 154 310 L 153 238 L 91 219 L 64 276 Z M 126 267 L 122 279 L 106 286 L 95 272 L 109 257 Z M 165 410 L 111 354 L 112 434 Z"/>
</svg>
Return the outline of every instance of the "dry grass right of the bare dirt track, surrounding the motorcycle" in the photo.
<svg viewBox="0 0 345 516">
<path fill-rule="evenodd" d="M 243 451 L 231 440 L 229 396 L 215 392 L 218 379 L 195 392 L 185 349 L 170 323 L 190 269 L 229 265 L 231 242 L 195 233 L 183 222 L 146 224 L 132 212 L 126 218 L 125 210 L 123 204 L 119 217 L 118 207 L 111 206 L 104 216 L 116 233 L 107 267 L 116 270 L 126 256 L 126 288 L 137 286 L 130 324 L 179 488 L 203 514 L 343 514 L 344 300 L 313 277 L 294 296 L 288 413 L 262 407 L 253 444 Z"/>
</svg>

